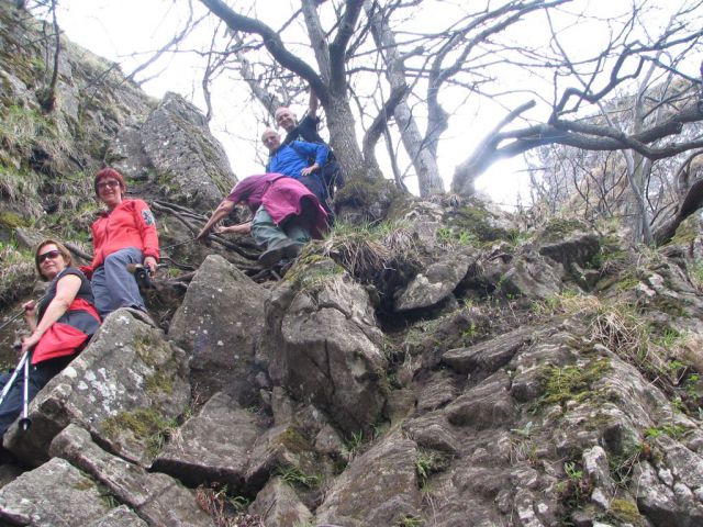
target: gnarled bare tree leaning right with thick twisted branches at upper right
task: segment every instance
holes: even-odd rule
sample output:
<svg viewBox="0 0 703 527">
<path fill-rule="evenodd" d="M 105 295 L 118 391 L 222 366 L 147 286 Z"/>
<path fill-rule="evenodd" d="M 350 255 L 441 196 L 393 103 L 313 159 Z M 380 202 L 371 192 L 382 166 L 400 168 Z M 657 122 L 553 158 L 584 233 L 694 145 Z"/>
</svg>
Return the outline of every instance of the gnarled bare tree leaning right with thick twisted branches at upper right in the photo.
<svg viewBox="0 0 703 527">
<path fill-rule="evenodd" d="M 614 32 L 605 49 L 599 51 L 590 59 L 572 61 L 563 48 L 555 44 L 558 49 L 554 57 L 554 64 L 558 65 L 555 70 L 555 98 L 546 122 L 501 131 L 522 117 L 528 104 L 510 112 L 501 121 L 499 130 L 492 131 L 481 144 L 481 148 L 475 150 L 461 165 L 460 170 L 457 170 L 453 188 L 461 189 L 465 181 L 476 178 L 498 159 L 513 157 L 543 145 L 561 144 L 589 150 L 629 150 L 632 155 L 647 160 L 646 162 L 666 159 L 703 146 L 701 139 L 688 139 L 681 135 L 687 124 L 703 120 L 703 113 L 696 103 L 698 79 L 680 68 L 681 59 L 702 42 L 702 2 L 687 2 L 672 16 L 672 23 L 661 35 L 643 43 L 641 35 L 637 34 L 634 27 L 644 24 L 640 18 L 645 15 L 646 3 L 640 1 L 634 4 L 628 16 L 622 21 L 621 31 Z M 556 34 L 554 42 L 558 43 Z M 667 58 L 666 63 L 663 58 Z M 578 71 L 583 72 L 577 75 Z M 672 80 L 667 81 L 669 86 L 687 86 L 684 93 L 678 94 L 676 101 L 667 93 L 659 102 L 650 99 L 650 87 L 654 83 L 665 83 L 662 74 L 678 79 L 677 83 Z M 577 81 L 581 85 L 580 88 L 560 89 L 557 81 L 561 77 Z M 599 103 L 607 101 L 609 98 L 612 100 L 622 97 L 622 91 L 618 90 L 631 86 L 628 82 L 633 79 L 640 79 L 638 96 L 634 100 L 634 112 L 639 112 L 637 124 L 623 130 L 613 126 L 607 120 L 593 120 L 592 115 L 600 111 Z M 599 86 L 600 88 L 596 88 Z M 591 117 L 587 114 L 587 119 L 583 119 L 583 106 L 594 108 Z M 662 139 L 667 138 L 669 141 L 665 143 Z M 636 158 L 629 161 L 633 183 L 639 188 L 639 195 L 643 175 L 647 171 L 646 162 L 640 164 Z M 638 173 L 635 173 L 636 171 Z"/>
</svg>

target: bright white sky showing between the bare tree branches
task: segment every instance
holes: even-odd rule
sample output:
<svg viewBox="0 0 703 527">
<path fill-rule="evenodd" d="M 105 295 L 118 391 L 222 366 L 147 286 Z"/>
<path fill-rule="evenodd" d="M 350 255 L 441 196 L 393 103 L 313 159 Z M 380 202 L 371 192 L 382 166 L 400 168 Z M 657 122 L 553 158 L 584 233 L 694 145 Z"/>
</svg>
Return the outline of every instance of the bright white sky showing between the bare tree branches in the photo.
<svg viewBox="0 0 703 527">
<path fill-rule="evenodd" d="M 59 2 L 58 22 L 66 35 L 75 43 L 91 52 L 101 55 L 110 60 L 119 61 L 123 65 L 124 72 L 131 72 L 140 60 L 148 58 L 148 52 L 158 49 L 168 42 L 179 30 L 182 22 L 182 11 L 179 2 L 183 0 L 64 0 Z M 668 4 L 671 0 L 659 0 L 662 4 Z M 449 8 L 451 1 L 445 0 L 444 8 Z M 587 8 L 593 4 L 594 0 L 576 0 L 574 9 Z M 678 2 L 671 2 L 678 3 Z M 271 13 L 278 13 L 283 19 L 292 9 L 287 9 L 288 4 L 298 4 L 294 0 L 259 0 L 252 2 L 256 9 L 266 12 L 266 22 L 276 27 L 271 22 Z M 442 16 L 436 16 L 437 4 L 426 1 L 425 4 L 431 10 L 427 16 L 419 18 L 419 25 L 425 31 L 429 30 L 433 21 L 440 21 Z M 434 8 L 431 5 L 433 4 Z M 601 11 L 610 10 L 610 13 L 628 9 L 629 0 L 595 0 L 595 4 Z M 197 1 L 193 5 L 198 12 L 203 12 L 204 8 Z M 277 10 L 269 9 L 276 5 Z M 254 8 L 253 8 L 254 9 Z M 435 12 L 432 11 L 434 9 Z M 443 9 L 444 12 L 446 10 Z M 252 14 L 252 13 L 250 13 Z M 603 13 L 605 16 L 607 13 Z M 444 21 L 443 21 L 444 23 Z M 652 22 L 654 25 L 665 23 L 663 20 Z M 204 33 L 211 33 L 209 27 L 213 27 L 213 22 L 208 21 Z M 599 31 L 601 30 L 601 31 Z M 656 30 L 652 27 L 652 30 Z M 515 31 L 511 29 L 511 31 Z M 545 33 L 546 34 L 546 33 Z M 535 31 L 534 26 L 526 25 L 523 33 L 515 32 L 515 38 L 528 37 L 534 43 L 544 34 Z M 598 40 L 606 37 L 606 25 L 574 27 L 565 35 L 565 42 L 569 44 L 570 53 L 578 56 L 579 53 L 588 53 L 598 48 Z M 137 60 L 130 58 L 135 52 L 146 52 Z M 149 70 L 150 75 L 156 75 L 152 80 L 143 85 L 143 89 L 157 98 L 163 97 L 166 91 L 181 93 L 201 109 L 204 103 L 200 92 L 202 78 L 202 59 L 193 55 L 180 54 L 170 57 L 168 63 L 159 63 L 159 66 Z M 496 70 L 496 74 L 500 72 Z M 533 75 L 524 79 L 511 79 L 515 85 L 531 82 L 542 85 L 544 80 Z M 445 93 L 445 101 L 450 94 Z M 547 97 L 550 93 L 547 91 Z M 257 121 L 256 114 L 260 114 L 260 109 L 252 110 L 249 105 L 243 109 L 248 99 L 248 88 L 243 81 L 237 79 L 220 79 L 213 86 L 214 119 L 211 122 L 213 134 L 222 142 L 230 162 L 237 178 L 259 172 L 266 150 L 258 141 L 261 124 Z M 515 105 L 525 102 L 527 96 L 523 94 L 517 99 Z M 447 104 L 447 110 L 451 111 L 451 105 Z M 304 106 L 293 106 L 293 111 L 301 115 Z M 542 112 L 542 113 L 540 113 Z M 533 115 L 544 119 L 544 108 L 533 111 Z M 479 108 L 459 108 L 453 114 L 450 128 L 445 133 L 439 146 L 438 162 L 440 172 L 445 180 L 445 188 L 448 190 L 455 166 L 470 154 L 476 143 L 490 130 L 500 119 L 505 115 L 504 109 L 483 103 Z M 326 130 L 322 132 L 326 136 Z M 360 134 L 358 135 L 360 137 Z M 384 148 L 383 150 L 384 152 Z M 379 159 L 382 158 L 381 150 L 378 152 Z M 511 204 L 515 202 L 516 194 L 523 192 L 523 202 L 526 201 L 525 190 L 527 189 L 527 173 L 523 171 L 524 164 L 521 158 L 495 164 L 477 182 L 477 188 L 489 193 L 498 203 Z M 390 171 L 389 171 L 390 172 Z"/>
</svg>

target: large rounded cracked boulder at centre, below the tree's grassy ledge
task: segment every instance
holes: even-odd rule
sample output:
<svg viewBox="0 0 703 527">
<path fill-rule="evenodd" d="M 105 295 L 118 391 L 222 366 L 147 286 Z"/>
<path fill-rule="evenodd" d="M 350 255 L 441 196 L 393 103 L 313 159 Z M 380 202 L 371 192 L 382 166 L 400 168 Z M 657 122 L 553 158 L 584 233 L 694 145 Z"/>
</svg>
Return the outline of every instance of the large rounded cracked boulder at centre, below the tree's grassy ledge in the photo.
<svg viewBox="0 0 703 527">
<path fill-rule="evenodd" d="M 272 291 L 266 321 L 271 379 L 347 434 L 368 430 L 388 380 L 367 292 L 330 259 L 299 261 Z"/>
</svg>

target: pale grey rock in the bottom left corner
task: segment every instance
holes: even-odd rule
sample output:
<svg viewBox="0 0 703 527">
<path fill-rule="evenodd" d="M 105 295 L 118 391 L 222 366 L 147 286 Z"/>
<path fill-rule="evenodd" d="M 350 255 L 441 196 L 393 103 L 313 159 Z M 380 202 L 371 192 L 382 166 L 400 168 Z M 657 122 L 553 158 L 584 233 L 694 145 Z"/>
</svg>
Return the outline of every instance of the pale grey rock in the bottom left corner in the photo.
<svg viewBox="0 0 703 527">
<path fill-rule="evenodd" d="M 58 458 L 0 490 L 0 519 L 10 525 L 89 525 L 109 509 L 98 484 Z"/>
</svg>

